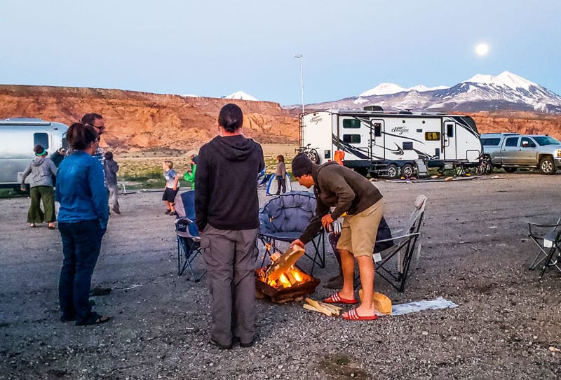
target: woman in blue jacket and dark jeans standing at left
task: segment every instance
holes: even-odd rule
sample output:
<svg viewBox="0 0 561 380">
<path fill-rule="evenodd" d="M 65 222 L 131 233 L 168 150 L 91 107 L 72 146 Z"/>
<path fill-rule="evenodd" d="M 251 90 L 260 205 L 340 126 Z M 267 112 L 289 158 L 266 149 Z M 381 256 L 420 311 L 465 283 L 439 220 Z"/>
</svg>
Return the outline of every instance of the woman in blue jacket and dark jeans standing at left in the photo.
<svg viewBox="0 0 561 380">
<path fill-rule="evenodd" d="M 64 255 L 58 282 L 60 321 L 97 325 L 110 319 L 93 311 L 89 302 L 93 269 L 109 218 L 103 169 L 92 157 L 100 140 L 93 127 L 78 122 L 69 127 L 67 140 L 72 154 L 60 163 L 55 191 Z"/>
</svg>

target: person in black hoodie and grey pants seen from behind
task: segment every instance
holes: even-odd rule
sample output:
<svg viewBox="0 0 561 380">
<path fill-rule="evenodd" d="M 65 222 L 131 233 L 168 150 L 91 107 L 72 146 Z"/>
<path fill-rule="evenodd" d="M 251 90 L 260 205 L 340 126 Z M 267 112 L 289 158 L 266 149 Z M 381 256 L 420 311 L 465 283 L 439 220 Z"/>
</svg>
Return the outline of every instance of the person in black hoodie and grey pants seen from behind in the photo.
<svg viewBox="0 0 561 380">
<path fill-rule="evenodd" d="M 257 174 L 263 150 L 243 136 L 243 113 L 227 104 L 220 135 L 201 147 L 195 176 L 195 219 L 212 296 L 210 343 L 231 349 L 255 342 L 255 277 L 259 199 Z"/>
</svg>

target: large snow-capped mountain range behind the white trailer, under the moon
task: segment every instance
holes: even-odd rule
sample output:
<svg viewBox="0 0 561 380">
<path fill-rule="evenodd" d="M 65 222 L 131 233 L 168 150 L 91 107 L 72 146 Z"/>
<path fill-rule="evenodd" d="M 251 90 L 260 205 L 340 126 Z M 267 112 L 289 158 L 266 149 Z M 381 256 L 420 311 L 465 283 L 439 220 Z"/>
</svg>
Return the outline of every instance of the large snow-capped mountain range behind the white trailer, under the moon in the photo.
<svg viewBox="0 0 561 380">
<path fill-rule="evenodd" d="M 478 74 L 452 87 L 403 88 L 381 83 L 358 97 L 311 104 L 310 108 L 362 109 L 377 105 L 387 111 L 538 111 L 561 113 L 561 97 L 546 87 L 504 71 Z"/>
</svg>

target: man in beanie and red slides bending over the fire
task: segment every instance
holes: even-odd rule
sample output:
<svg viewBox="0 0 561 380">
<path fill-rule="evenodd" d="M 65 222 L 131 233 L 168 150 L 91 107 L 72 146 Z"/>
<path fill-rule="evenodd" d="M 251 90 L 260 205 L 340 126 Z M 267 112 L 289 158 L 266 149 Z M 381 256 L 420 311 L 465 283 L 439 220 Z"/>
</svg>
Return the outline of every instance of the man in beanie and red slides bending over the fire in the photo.
<svg viewBox="0 0 561 380">
<path fill-rule="evenodd" d="M 320 228 L 332 225 L 346 213 L 337 250 L 341 255 L 343 288 L 325 299 L 327 303 L 356 304 L 353 276 L 355 259 L 358 262 L 363 300 L 359 307 L 342 314 L 349 321 L 374 320 L 376 311 L 372 303 L 374 293 L 374 262 L 372 248 L 376 242 L 378 225 L 384 215 L 384 202 L 379 190 L 366 178 L 337 162 L 313 164 L 304 154 L 292 160 L 292 175 L 300 185 L 313 186 L 316 195 L 316 214 L 308 227 L 291 246 L 304 244 L 317 234 Z M 330 207 L 334 210 L 330 212 Z"/>
</svg>

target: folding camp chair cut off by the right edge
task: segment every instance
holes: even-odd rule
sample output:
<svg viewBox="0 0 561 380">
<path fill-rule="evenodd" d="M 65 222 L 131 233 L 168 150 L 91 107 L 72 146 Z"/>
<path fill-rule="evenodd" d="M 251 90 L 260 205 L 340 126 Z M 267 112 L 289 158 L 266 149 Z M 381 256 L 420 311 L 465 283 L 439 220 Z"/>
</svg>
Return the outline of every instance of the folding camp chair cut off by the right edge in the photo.
<svg viewBox="0 0 561 380">
<path fill-rule="evenodd" d="M 536 269 L 541 265 L 540 279 L 547 267 L 555 267 L 561 272 L 561 218 L 553 225 L 528 222 L 528 237 L 538 247 L 536 258 L 529 269 Z"/>
</svg>

